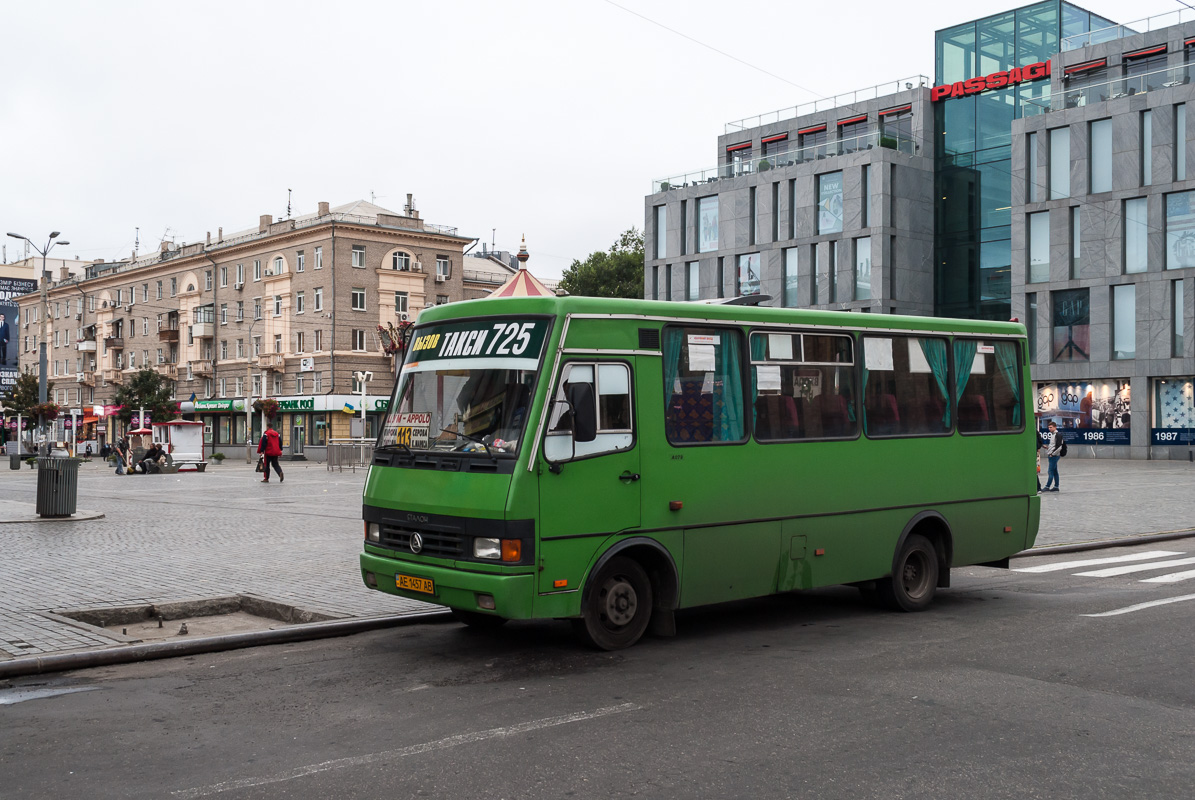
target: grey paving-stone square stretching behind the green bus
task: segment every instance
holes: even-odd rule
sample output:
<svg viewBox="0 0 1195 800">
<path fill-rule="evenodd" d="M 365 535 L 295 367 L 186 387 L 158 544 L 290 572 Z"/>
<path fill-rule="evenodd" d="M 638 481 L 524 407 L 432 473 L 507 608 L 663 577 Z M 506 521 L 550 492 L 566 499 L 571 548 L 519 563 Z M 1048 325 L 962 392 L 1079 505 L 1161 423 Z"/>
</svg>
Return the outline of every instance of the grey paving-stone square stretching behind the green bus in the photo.
<svg viewBox="0 0 1195 800">
<path fill-rule="evenodd" d="M 45 616 L 72 607 L 256 594 L 332 616 L 431 610 L 361 585 L 364 471 L 284 465 L 263 486 L 244 463 L 203 474 L 79 474 L 85 521 L 0 524 L 0 660 L 122 641 Z M 1042 495 L 1037 545 L 1195 526 L 1195 464 L 1067 458 L 1062 490 Z M 27 515 L 33 470 L 0 471 L 0 521 Z"/>
</svg>

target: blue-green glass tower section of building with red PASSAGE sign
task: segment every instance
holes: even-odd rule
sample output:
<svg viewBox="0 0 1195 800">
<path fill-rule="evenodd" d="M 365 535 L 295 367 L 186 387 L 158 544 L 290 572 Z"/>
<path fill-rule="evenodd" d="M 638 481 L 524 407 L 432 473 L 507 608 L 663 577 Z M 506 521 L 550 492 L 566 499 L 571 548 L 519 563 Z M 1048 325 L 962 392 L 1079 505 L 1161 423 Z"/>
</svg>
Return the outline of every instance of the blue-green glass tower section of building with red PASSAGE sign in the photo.
<svg viewBox="0 0 1195 800">
<path fill-rule="evenodd" d="M 934 84 L 1047 61 L 1059 50 L 1064 17 L 1067 35 L 1092 24 L 1087 12 L 1049 0 L 938 31 Z M 1011 316 L 1012 121 L 1048 97 L 1049 80 L 1037 80 L 934 103 L 938 316 Z"/>
</svg>

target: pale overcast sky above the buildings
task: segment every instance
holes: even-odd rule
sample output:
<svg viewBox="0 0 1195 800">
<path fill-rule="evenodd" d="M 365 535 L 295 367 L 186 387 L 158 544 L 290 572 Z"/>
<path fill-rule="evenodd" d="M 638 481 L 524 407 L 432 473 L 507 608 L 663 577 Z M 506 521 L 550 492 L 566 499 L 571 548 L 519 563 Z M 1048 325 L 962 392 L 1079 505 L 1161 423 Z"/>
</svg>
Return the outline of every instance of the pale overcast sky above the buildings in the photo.
<svg viewBox="0 0 1195 800">
<path fill-rule="evenodd" d="M 6 4 L 0 232 L 112 259 L 136 227 L 145 252 L 282 218 L 287 189 L 295 215 L 411 193 L 558 277 L 643 227 L 652 178 L 712 166 L 725 122 L 932 78 L 936 29 L 1024 5 L 617 2 Z"/>
</svg>

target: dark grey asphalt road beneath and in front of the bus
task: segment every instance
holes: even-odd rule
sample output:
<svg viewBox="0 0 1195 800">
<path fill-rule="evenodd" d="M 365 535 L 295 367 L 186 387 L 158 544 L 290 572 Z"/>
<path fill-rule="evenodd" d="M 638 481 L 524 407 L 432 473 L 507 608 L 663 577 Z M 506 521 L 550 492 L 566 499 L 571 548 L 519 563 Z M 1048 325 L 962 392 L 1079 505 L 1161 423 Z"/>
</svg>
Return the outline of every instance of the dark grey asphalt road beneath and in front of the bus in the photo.
<svg viewBox="0 0 1195 800">
<path fill-rule="evenodd" d="M 1190 796 L 1195 600 L 1123 611 L 1195 592 L 1152 581 L 1195 569 L 1169 544 L 956 570 L 917 615 L 690 611 L 620 653 L 416 624 L 17 679 L 0 796 Z"/>
</svg>

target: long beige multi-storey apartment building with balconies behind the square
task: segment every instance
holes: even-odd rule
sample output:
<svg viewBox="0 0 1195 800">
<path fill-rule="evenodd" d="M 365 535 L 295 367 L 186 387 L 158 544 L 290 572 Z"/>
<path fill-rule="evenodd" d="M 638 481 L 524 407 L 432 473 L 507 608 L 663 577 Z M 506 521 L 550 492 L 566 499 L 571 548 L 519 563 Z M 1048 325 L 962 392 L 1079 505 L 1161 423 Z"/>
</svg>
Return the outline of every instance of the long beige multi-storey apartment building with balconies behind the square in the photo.
<svg viewBox="0 0 1195 800">
<path fill-rule="evenodd" d="M 54 275 L 48 303 L 51 399 L 80 408 L 103 440 L 115 391 L 151 367 L 174 397 L 195 396 L 209 452 L 238 453 L 259 433 L 245 408 L 282 403 L 288 451 L 319 457 L 329 439 L 348 438 L 362 395 L 354 374 L 372 372 L 364 393 L 373 435 L 393 385 L 393 358 L 379 328 L 413 320 L 429 305 L 484 297 L 501 285 L 501 264 L 478 270 L 466 252 L 476 239 L 421 219 L 410 195 L 398 214 L 364 201 L 274 220 L 204 242 L 164 242 L 127 262 L 90 264 L 81 277 Z M 38 294 L 18 299 L 13 331 L 20 367 L 37 371 Z M 348 407 L 351 414 L 345 413 Z M 106 409 L 111 411 L 111 409 Z M 98 414 L 93 411 L 99 411 Z"/>
</svg>

